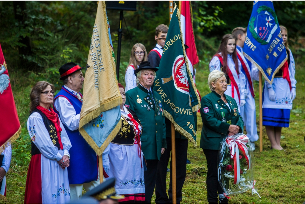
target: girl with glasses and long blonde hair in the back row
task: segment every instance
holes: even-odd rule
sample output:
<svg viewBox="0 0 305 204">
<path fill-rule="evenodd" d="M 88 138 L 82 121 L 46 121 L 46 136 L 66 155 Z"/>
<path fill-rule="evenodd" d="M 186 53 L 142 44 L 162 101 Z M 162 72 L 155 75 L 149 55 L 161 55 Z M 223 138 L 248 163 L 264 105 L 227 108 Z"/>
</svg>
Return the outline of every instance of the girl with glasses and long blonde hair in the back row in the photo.
<svg viewBox="0 0 305 204">
<path fill-rule="evenodd" d="M 134 71 L 144 61 L 147 61 L 146 48 L 143 44 L 137 43 L 131 49 L 129 64 L 125 71 L 125 92 L 138 86 Z"/>
</svg>

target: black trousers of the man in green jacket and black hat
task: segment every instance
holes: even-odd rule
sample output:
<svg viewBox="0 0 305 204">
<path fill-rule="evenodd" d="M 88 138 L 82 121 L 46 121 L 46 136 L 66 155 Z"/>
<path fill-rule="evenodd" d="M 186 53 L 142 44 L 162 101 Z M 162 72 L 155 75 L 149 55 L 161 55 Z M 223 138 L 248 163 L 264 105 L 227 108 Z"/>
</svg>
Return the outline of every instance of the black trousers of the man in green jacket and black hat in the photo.
<svg viewBox="0 0 305 204">
<path fill-rule="evenodd" d="M 147 171 L 144 171 L 145 203 L 150 203 L 156 185 L 157 159 L 146 159 Z"/>
</svg>

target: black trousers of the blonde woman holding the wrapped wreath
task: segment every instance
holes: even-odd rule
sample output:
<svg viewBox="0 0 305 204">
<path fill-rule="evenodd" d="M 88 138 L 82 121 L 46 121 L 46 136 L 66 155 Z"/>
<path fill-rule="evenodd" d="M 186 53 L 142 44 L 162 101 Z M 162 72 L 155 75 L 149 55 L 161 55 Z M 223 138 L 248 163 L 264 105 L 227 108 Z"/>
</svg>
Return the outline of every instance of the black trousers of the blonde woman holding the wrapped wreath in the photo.
<svg viewBox="0 0 305 204">
<path fill-rule="evenodd" d="M 208 191 L 208 202 L 218 203 L 218 194 L 223 194 L 221 185 L 218 183 L 218 150 L 203 149 L 206 155 L 206 162 L 208 164 L 208 173 L 206 174 L 206 190 Z M 218 192 L 218 193 L 217 193 Z M 228 199 L 219 200 L 219 203 L 228 203 Z"/>
</svg>

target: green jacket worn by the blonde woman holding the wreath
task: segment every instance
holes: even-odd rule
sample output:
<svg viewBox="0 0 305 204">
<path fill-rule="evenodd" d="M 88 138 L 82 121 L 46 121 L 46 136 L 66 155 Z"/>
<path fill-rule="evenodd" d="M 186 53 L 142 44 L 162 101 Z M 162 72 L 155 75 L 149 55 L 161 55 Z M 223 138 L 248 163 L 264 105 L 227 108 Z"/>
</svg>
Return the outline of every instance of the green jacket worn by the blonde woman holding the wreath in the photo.
<svg viewBox="0 0 305 204">
<path fill-rule="evenodd" d="M 242 121 L 242 116 L 238 113 L 235 99 L 228 95 L 224 95 L 224 97 L 231 111 L 215 91 L 201 99 L 202 131 L 200 148 L 202 149 L 218 150 L 220 142 L 229 134 L 230 124 L 228 122 L 230 121 L 232 125 L 240 127 L 239 133 L 243 131 L 244 122 Z"/>
</svg>

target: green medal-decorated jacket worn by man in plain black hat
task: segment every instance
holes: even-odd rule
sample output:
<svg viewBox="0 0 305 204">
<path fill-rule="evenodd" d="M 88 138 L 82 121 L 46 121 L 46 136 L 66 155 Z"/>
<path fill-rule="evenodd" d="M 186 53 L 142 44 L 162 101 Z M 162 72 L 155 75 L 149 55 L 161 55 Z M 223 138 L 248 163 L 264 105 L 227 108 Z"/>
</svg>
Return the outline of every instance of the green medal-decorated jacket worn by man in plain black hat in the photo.
<svg viewBox="0 0 305 204">
<path fill-rule="evenodd" d="M 166 148 L 166 126 L 161 96 L 152 90 L 156 107 L 151 107 L 148 90 L 140 84 L 126 92 L 125 106 L 133 110 L 143 126 L 141 135 L 145 159 L 160 160 L 161 148 Z M 147 100 L 148 98 L 148 100 Z M 160 106 L 161 105 L 161 106 Z"/>
</svg>

